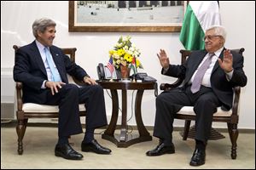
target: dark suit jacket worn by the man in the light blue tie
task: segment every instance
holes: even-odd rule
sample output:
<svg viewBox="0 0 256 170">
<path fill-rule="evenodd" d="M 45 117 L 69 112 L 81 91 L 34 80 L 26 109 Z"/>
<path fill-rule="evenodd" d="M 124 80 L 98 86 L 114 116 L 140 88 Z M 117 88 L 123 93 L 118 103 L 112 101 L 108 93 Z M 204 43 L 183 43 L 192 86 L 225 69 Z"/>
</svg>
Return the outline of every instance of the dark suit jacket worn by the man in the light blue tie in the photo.
<svg viewBox="0 0 256 170">
<path fill-rule="evenodd" d="M 67 82 L 67 73 L 78 80 L 83 80 L 87 73 L 79 65 L 72 63 L 69 57 L 62 53 L 61 48 L 51 46 L 49 48 L 55 65 L 61 75 L 62 82 Z M 39 53 L 36 42 L 32 42 L 17 50 L 15 54 L 14 67 L 15 82 L 23 82 L 23 101 L 44 104 L 46 101 L 46 90 L 41 86 L 47 80 L 47 73 L 43 59 Z"/>
</svg>

